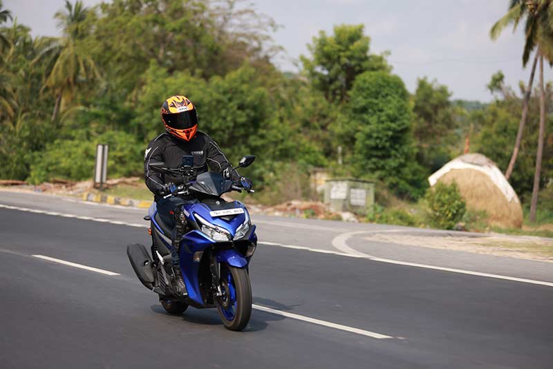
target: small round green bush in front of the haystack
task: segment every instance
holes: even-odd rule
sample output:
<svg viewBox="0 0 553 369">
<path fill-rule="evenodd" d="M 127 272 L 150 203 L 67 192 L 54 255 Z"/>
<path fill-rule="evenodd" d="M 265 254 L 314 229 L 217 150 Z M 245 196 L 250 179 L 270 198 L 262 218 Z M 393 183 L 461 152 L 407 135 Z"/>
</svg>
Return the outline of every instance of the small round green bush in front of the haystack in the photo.
<svg viewBox="0 0 553 369">
<path fill-rule="evenodd" d="M 424 200 L 427 202 L 430 225 L 435 228 L 453 229 L 467 210 L 456 182 L 451 185 L 438 182 L 427 190 Z"/>
</svg>

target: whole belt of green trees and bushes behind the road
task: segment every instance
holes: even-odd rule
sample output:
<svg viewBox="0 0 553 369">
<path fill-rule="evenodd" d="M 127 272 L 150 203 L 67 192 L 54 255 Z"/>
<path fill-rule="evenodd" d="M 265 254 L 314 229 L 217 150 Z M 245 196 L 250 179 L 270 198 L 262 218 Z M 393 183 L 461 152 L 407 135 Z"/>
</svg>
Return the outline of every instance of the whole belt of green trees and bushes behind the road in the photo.
<svg viewBox="0 0 553 369">
<path fill-rule="evenodd" d="M 521 100 L 500 75 L 489 105 L 451 102 L 448 88 L 426 77 L 410 96 L 390 75 L 386 54 L 370 53 L 360 25 L 320 32 L 301 57 L 303 75 L 294 75 L 271 63 L 279 50 L 270 39 L 274 21 L 240 0 L 113 0 L 91 8 L 66 1 L 55 18 L 62 37 L 33 38 L 17 19 L 5 26 L 11 14 L 0 1 L 0 178 L 91 178 L 100 141 L 110 144 L 110 177 L 140 174 L 144 146 L 163 131 L 160 105 L 175 94 L 194 101 L 200 130 L 231 162 L 257 156 L 241 173 L 269 203 L 314 198 L 313 167 L 377 179 L 383 193 L 414 200 L 467 135 L 471 151 L 502 169 L 512 151 Z M 534 97 L 512 175 L 523 200 L 537 106 Z M 553 178 L 546 131 L 543 185 Z M 382 214 L 388 223 L 417 218 Z"/>
</svg>

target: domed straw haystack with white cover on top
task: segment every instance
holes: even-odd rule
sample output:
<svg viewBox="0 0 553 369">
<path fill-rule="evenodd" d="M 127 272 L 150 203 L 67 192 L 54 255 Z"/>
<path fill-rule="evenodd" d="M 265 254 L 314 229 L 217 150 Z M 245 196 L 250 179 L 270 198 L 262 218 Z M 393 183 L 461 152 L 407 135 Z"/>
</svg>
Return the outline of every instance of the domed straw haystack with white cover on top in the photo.
<svg viewBox="0 0 553 369">
<path fill-rule="evenodd" d="M 515 191 L 496 164 L 479 153 L 461 155 L 451 160 L 428 178 L 436 182 L 457 182 L 469 209 L 484 210 L 488 224 L 520 228 L 523 209 Z"/>
</svg>

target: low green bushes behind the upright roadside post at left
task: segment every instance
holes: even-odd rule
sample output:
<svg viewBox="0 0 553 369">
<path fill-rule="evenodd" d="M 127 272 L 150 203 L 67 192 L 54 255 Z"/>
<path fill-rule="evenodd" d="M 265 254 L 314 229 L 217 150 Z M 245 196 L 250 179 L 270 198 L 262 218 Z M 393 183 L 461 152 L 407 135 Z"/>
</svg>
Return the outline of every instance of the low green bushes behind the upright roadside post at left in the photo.
<svg viewBox="0 0 553 369">
<path fill-rule="evenodd" d="M 111 177 L 140 176 L 142 147 L 133 135 L 120 131 L 96 137 L 79 134 L 71 140 L 55 140 L 42 153 L 32 155 L 28 181 L 38 184 L 52 178 L 86 180 L 94 172 L 97 144 L 109 144 L 108 169 Z"/>
</svg>

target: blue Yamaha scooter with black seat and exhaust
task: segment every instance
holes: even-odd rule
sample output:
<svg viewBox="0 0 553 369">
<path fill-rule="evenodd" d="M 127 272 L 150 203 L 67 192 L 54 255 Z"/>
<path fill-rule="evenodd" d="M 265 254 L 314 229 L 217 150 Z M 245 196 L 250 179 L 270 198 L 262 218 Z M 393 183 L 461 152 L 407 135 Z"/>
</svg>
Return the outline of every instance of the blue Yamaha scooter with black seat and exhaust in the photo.
<svg viewBox="0 0 553 369">
<path fill-rule="evenodd" d="M 239 167 L 247 167 L 255 156 L 242 158 Z M 243 191 L 229 173 L 206 172 L 195 176 L 192 157 L 182 157 L 182 166 L 167 168 L 163 162 L 151 162 L 153 171 L 182 176 L 184 185 L 169 196 L 186 196 L 197 201 L 183 205 L 187 232 L 180 240 L 180 269 L 187 294 L 177 295 L 171 287 L 171 233 L 173 227 L 162 219 L 156 202 L 144 220 L 151 222 L 151 255 L 144 245 L 129 245 L 126 254 L 138 276 L 149 290 L 159 295 L 161 305 L 171 314 L 182 314 L 188 306 L 218 308 L 225 327 L 243 330 L 252 314 L 252 287 L 248 265 L 257 246 L 256 226 L 239 201 L 221 198 L 229 191 Z M 194 178 L 194 180 L 189 180 Z M 253 190 L 251 190 L 253 192 Z M 166 197 L 169 197 L 166 196 Z"/>
</svg>

